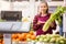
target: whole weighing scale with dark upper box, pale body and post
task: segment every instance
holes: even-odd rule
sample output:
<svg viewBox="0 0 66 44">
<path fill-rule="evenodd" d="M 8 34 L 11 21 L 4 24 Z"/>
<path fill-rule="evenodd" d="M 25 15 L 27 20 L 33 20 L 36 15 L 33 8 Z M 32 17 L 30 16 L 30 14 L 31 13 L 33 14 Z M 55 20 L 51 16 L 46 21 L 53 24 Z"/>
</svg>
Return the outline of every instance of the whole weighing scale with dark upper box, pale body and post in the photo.
<svg viewBox="0 0 66 44">
<path fill-rule="evenodd" d="M 12 44 L 12 33 L 30 31 L 31 22 L 22 22 L 22 11 L 1 11 L 0 33 L 3 33 L 4 44 Z"/>
</svg>

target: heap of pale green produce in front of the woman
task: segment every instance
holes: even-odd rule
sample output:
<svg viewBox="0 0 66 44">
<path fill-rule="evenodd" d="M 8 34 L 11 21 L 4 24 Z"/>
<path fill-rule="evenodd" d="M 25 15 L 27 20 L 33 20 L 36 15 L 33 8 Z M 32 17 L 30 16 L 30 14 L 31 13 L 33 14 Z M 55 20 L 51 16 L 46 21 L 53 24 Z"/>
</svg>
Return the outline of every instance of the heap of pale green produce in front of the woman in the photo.
<svg viewBox="0 0 66 44">
<path fill-rule="evenodd" d="M 66 44 L 66 38 L 58 34 L 46 34 L 36 36 L 35 42 L 44 42 L 44 43 L 55 43 L 55 44 Z"/>
</svg>

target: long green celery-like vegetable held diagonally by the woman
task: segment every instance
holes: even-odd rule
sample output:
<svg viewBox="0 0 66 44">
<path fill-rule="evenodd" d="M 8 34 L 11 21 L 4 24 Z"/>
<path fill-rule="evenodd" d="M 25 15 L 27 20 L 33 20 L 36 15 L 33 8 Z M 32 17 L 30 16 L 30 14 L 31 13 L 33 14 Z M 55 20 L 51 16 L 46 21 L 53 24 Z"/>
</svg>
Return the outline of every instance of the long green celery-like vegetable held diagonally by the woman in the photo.
<svg viewBox="0 0 66 44">
<path fill-rule="evenodd" d="M 62 13 L 66 12 L 65 7 L 58 7 L 54 13 L 51 14 L 51 18 L 47 20 L 47 22 L 43 25 L 43 31 L 47 31 L 51 23 L 54 22 L 56 19 L 61 22 L 59 15 Z"/>
</svg>

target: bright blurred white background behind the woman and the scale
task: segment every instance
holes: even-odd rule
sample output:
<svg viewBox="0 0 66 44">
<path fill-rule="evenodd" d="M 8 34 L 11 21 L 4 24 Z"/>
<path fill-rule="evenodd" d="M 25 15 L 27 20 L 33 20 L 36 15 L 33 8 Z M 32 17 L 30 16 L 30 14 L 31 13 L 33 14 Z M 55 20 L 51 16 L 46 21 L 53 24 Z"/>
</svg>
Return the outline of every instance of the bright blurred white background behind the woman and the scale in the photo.
<svg viewBox="0 0 66 44">
<path fill-rule="evenodd" d="M 22 11 L 22 18 L 28 18 L 33 21 L 34 15 L 37 13 L 37 7 L 41 1 L 48 3 L 48 12 L 53 13 L 57 6 L 64 6 L 65 0 L 0 0 L 0 11 L 13 10 Z M 57 31 L 59 28 L 57 26 Z"/>
</svg>

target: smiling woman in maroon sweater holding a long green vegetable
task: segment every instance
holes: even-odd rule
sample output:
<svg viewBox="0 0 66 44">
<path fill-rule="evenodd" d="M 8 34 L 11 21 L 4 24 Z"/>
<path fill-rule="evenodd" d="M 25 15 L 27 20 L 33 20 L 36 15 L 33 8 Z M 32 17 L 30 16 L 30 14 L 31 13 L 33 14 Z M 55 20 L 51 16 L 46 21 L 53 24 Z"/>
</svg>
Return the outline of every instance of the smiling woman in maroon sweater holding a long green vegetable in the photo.
<svg viewBox="0 0 66 44">
<path fill-rule="evenodd" d="M 51 23 L 51 26 L 50 26 L 50 29 L 46 32 L 44 32 L 42 30 L 43 25 L 45 24 L 45 22 L 51 16 L 51 13 L 48 13 L 47 2 L 41 2 L 38 10 L 40 10 L 40 13 L 36 14 L 34 20 L 33 20 L 33 29 L 34 29 L 34 31 L 36 31 L 36 35 L 52 34 L 53 30 L 56 29 L 56 23 L 55 22 Z"/>
</svg>

